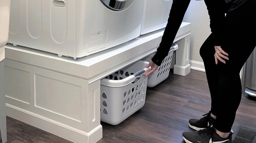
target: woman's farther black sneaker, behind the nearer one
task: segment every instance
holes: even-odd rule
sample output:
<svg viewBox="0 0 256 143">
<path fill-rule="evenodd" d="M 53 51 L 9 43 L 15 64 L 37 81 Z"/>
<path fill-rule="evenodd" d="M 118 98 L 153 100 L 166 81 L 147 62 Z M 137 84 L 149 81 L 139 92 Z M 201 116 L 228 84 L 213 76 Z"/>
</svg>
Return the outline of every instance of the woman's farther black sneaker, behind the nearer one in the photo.
<svg viewBox="0 0 256 143">
<path fill-rule="evenodd" d="M 211 117 L 211 111 L 203 115 L 204 117 L 201 119 L 189 119 L 188 125 L 190 128 L 194 130 L 202 130 L 212 124 L 214 122 L 214 118 Z"/>
</svg>

